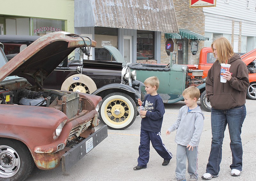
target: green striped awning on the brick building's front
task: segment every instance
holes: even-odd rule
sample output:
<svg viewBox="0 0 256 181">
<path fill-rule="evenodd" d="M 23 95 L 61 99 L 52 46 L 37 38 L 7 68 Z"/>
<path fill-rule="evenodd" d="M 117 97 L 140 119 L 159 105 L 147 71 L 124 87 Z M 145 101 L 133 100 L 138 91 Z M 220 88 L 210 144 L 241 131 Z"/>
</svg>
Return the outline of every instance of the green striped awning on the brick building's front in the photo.
<svg viewBox="0 0 256 181">
<path fill-rule="evenodd" d="M 166 39 L 173 38 L 173 39 L 190 39 L 190 40 L 209 40 L 208 37 L 204 35 L 200 35 L 195 32 L 191 32 L 189 30 L 180 29 L 180 33 L 165 33 L 164 34 Z"/>
</svg>

